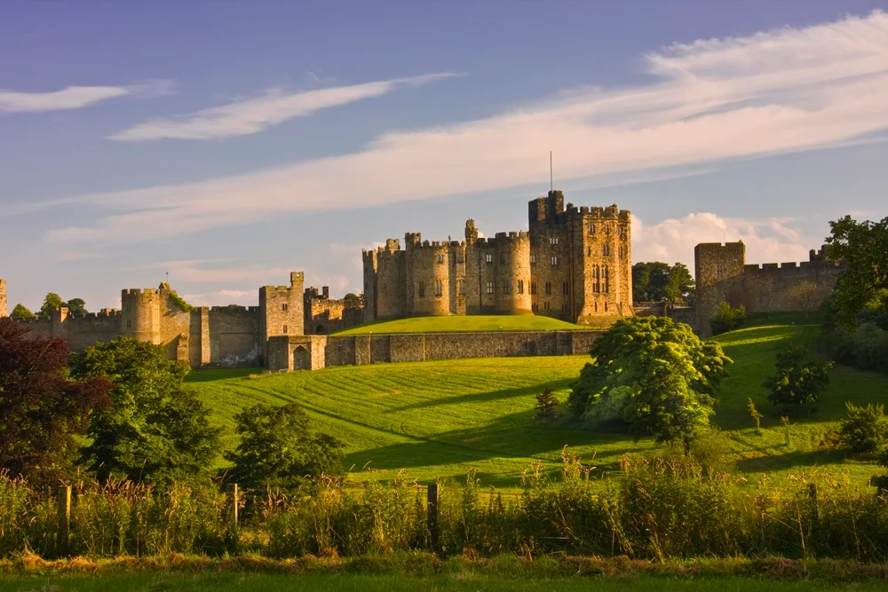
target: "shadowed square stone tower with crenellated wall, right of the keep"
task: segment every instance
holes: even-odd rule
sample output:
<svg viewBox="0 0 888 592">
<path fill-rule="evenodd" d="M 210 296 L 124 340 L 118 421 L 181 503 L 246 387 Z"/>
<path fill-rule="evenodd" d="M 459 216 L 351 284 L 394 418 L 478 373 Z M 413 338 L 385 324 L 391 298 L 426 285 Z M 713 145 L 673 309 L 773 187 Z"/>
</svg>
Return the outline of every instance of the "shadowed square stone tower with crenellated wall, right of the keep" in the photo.
<svg viewBox="0 0 888 592">
<path fill-rule="evenodd" d="M 746 264 L 746 245 L 739 242 L 703 242 L 694 247 L 696 329 L 710 331 L 710 319 L 721 302 L 742 304 L 747 312 L 789 312 L 800 309 L 794 288 L 813 285 L 813 300 L 824 302 L 836 285 L 841 262 L 825 256 L 825 246 L 811 249 L 808 261 Z"/>
</svg>

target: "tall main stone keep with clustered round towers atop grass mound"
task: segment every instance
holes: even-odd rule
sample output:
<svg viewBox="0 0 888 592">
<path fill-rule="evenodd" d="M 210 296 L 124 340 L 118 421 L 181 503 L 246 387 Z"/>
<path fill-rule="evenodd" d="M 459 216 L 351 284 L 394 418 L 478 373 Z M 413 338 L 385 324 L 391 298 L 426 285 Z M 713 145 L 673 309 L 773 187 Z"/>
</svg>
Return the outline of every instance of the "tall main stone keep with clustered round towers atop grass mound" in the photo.
<svg viewBox="0 0 888 592">
<path fill-rule="evenodd" d="M 576 208 L 560 191 L 529 202 L 527 233 L 422 241 L 363 252 L 364 320 L 448 314 L 538 314 L 607 324 L 632 314 L 630 212 Z"/>
</svg>

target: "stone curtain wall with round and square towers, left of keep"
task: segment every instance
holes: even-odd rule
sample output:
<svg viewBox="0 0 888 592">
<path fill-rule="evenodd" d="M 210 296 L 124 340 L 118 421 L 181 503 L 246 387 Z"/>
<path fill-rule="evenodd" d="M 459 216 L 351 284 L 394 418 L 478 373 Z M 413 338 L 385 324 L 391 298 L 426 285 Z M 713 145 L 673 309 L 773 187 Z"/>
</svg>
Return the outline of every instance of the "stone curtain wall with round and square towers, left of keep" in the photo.
<svg viewBox="0 0 888 592">
<path fill-rule="evenodd" d="M 269 339 L 303 335 L 303 285 L 303 273 L 292 272 L 289 286 L 259 288 L 258 306 L 195 308 L 163 282 L 158 288 L 123 289 L 119 310 L 74 315 L 62 307 L 52 318 L 22 324 L 30 335 L 67 339 L 72 351 L 123 335 L 163 345 L 170 359 L 195 368 L 265 366 Z"/>
</svg>

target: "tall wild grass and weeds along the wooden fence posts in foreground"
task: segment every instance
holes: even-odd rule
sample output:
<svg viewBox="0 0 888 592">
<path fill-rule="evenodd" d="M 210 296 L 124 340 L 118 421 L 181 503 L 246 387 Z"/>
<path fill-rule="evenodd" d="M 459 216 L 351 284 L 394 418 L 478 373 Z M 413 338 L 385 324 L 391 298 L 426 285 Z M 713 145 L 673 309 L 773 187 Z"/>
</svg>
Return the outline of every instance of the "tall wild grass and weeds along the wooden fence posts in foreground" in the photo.
<svg viewBox="0 0 888 592">
<path fill-rule="evenodd" d="M 562 454 L 559 478 L 539 463 L 519 497 L 484 489 L 471 471 L 440 486 L 438 545 L 425 487 L 399 476 L 359 488 L 323 479 L 305 491 L 248 493 L 235 537 L 226 497 L 210 483 L 168 491 L 129 483 L 77 485 L 70 552 L 83 556 L 369 556 L 411 549 L 444 556 L 568 555 L 667 559 L 786 556 L 888 561 L 888 501 L 850 479 L 798 473 L 757 487 L 684 458 L 622 459 L 593 467 Z M 52 555 L 55 507 L 45 493 L 0 476 L 0 556 Z"/>
</svg>

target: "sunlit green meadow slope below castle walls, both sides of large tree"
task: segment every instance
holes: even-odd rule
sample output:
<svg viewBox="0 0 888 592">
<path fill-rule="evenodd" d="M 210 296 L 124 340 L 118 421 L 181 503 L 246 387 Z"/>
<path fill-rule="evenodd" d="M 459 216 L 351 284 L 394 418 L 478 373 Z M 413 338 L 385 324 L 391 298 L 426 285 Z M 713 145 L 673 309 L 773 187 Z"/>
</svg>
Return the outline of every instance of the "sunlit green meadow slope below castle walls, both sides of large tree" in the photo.
<svg viewBox="0 0 888 592">
<path fill-rule="evenodd" d="M 885 402 L 888 377 L 837 367 L 818 412 L 793 421 L 789 446 L 779 414 L 761 387 L 773 369 L 775 351 L 790 341 L 813 340 L 817 330 L 776 317 L 718 337 L 735 363 L 718 391 L 714 422 L 720 431 L 701 444 L 703 454 L 724 454 L 733 470 L 749 475 L 750 483 L 765 471 L 780 478 L 815 467 L 846 471 L 859 485 L 867 482 L 876 472 L 871 462 L 845 459 L 818 442 L 844 416 L 845 400 Z M 622 454 L 654 448 L 652 441 L 636 443 L 624 433 L 532 420 L 535 395 L 548 387 L 567 399 L 570 383 L 587 361 L 585 356 L 464 359 L 261 377 L 223 370 L 192 373 L 188 380 L 229 429 L 242 407 L 297 402 L 319 430 L 345 441 L 347 462 L 359 472 L 356 478 L 388 478 L 407 470 L 410 477 L 428 482 L 438 476 L 460 478 L 473 467 L 483 484 L 511 486 L 530 462 L 557 470 L 563 446 L 594 458 L 598 473 L 614 470 Z M 765 414 L 761 435 L 746 411 L 749 397 Z M 229 430 L 226 446 L 235 444 Z"/>
</svg>

